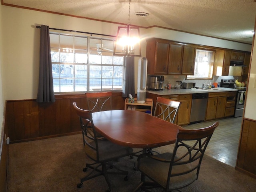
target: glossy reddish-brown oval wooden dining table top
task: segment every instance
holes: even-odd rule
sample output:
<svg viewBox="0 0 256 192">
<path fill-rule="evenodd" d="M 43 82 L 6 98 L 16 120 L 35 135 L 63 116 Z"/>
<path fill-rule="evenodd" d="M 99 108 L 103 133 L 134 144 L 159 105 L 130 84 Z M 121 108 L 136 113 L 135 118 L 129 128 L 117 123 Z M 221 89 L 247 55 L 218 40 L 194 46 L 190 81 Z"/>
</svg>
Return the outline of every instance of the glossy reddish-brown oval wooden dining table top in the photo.
<svg viewBox="0 0 256 192">
<path fill-rule="evenodd" d="M 182 127 L 134 110 L 92 113 L 97 132 L 115 144 L 132 148 L 154 148 L 173 144 Z"/>
</svg>

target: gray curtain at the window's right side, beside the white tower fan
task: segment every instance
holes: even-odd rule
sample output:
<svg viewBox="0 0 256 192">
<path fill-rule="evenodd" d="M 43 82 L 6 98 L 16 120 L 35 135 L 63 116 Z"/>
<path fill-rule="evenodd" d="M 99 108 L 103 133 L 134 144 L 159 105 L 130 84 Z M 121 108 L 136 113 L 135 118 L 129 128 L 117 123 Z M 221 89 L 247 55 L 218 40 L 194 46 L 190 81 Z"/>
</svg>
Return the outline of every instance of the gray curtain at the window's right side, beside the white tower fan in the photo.
<svg viewBox="0 0 256 192">
<path fill-rule="evenodd" d="M 123 97 L 128 97 L 132 94 L 135 97 L 134 88 L 134 57 L 124 57 L 124 83 L 123 83 Z"/>
</svg>

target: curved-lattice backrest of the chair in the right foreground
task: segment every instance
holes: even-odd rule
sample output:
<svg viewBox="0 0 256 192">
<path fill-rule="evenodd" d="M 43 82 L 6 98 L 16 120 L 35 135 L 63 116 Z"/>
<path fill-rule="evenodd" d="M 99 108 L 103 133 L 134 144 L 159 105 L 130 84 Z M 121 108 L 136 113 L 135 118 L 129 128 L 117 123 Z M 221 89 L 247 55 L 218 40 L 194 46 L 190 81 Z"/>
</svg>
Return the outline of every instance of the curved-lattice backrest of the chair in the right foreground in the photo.
<svg viewBox="0 0 256 192">
<path fill-rule="evenodd" d="M 172 182 L 173 177 L 191 174 L 191 172 L 196 175 L 194 180 L 198 179 L 204 152 L 218 125 L 219 122 L 215 122 L 206 128 L 179 130 L 170 163 L 167 187 Z M 186 186 L 194 182 L 194 180 L 186 182 Z"/>
</svg>

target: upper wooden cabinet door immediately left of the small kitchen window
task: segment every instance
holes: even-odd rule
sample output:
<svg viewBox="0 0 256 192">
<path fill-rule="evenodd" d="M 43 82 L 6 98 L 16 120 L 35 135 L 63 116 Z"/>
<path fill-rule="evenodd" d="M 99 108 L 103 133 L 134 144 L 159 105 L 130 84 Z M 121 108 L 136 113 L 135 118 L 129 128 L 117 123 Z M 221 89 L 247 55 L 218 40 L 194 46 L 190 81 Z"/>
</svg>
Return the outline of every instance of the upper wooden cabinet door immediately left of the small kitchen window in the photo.
<svg viewBox="0 0 256 192">
<path fill-rule="evenodd" d="M 182 74 L 194 75 L 194 66 L 196 58 L 196 47 L 184 45 Z"/>
</svg>

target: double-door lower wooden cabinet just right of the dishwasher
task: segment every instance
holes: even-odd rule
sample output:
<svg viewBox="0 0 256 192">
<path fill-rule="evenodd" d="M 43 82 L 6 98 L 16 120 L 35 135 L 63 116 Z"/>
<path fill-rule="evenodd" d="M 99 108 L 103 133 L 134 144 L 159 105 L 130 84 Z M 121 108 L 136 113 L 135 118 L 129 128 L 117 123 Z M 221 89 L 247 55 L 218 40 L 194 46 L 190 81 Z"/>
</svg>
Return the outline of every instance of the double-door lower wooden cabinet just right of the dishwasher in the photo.
<svg viewBox="0 0 256 192">
<path fill-rule="evenodd" d="M 205 120 L 223 118 L 225 116 L 227 92 L 208 94 Z"/>
</svg>

